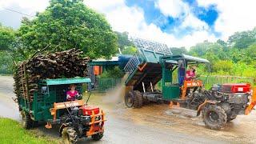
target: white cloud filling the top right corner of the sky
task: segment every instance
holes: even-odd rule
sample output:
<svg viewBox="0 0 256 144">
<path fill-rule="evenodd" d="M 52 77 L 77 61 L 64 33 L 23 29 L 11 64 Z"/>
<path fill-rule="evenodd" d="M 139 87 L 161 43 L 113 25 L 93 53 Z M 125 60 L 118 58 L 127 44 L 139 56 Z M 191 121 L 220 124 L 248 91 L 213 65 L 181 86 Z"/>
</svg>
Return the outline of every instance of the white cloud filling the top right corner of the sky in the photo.
<svg viewBox="0 0 256 144">
<path fill-rule="evenodd" d="M 236 31 L 251 30 L 256 26 L 255 0 L 198 0 L 200 6 L 214 4 L 219 12 L 214 29 L 222 33 L 222 39 Z"/>
</svg>

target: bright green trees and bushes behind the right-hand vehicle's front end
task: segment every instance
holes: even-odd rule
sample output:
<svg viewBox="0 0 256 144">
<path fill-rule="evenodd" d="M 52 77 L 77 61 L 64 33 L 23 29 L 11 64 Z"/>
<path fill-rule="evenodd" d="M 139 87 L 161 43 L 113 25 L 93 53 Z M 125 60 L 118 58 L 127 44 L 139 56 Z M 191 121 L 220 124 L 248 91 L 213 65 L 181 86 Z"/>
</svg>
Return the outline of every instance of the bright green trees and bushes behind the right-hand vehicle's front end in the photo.
<svg viewBox="0 0 256 144">
<path fill-rule="evenodd" d="M 236 75 L 256 78 L 256 28 L 237 32 L 227 42 L 202 42 L 190 50 L 172 48 L 183 53 L 210 60 L 210 72 L 218 75 Z"/>
</svg>

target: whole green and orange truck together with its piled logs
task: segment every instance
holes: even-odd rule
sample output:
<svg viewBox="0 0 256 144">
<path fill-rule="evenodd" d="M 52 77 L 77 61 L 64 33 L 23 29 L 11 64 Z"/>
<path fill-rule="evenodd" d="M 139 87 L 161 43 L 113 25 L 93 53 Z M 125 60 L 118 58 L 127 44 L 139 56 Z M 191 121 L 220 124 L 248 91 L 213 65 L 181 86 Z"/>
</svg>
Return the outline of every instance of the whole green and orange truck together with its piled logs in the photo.
<svg viewBox="0 0 256 144">
<path fill-rule="evenodd" d="M 30 129 L 38 122 L 46 128 L 61 125 L 59 134 L 64 143 L 76 143 L 78 138 L 99 140 L 104 132 L 104 113 L 98 106 L 89 106 L 82 94 L 90 91 L 87 75 L 89 58 L 80 50 L 53 54 L 36 54 L 20 63 L 14 71 L 14 93 L 22 115 L 22 126 Z M 75 85 L 78 95 L 70 101 L 66 93 Z M 88 93 L 86 93 L 88 94 Z"/>
</svg>

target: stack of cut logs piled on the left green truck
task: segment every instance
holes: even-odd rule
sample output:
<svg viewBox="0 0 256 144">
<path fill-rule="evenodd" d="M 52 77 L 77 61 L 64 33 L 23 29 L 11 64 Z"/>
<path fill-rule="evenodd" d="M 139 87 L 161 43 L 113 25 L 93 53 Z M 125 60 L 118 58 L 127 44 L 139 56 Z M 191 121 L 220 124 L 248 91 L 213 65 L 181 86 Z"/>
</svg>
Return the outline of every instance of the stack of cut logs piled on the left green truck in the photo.
<svg viewBox="0 0 256 144">
<path fill-rule="evenodd" d="M 22 62 L 14 71 L 14 93 L 33 101 L 38 82 L 46 78 L 86 77 L 89 58 L 81 58 L 80 50 L 66 50 L 54 54 L 38 54 Z"/>
</svg>

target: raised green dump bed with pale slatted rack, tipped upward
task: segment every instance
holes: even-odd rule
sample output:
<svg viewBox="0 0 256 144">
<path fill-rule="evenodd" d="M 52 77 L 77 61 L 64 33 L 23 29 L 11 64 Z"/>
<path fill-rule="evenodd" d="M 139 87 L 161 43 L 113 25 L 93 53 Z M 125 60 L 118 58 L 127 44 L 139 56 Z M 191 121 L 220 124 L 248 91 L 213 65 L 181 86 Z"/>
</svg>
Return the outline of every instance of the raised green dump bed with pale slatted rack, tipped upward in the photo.
<svg viewBox="0 0 256 144">
<path fill-rule="evenodd" d="M 162 67 L 159 58 L 172 55 L 166 44 L 132 38 L 138 54 L 130 58 L 124 70 L 127 73 L 125 81 L 129 89 L 144 91 L 151 89 L 162 78 Z"/>
</svg>

